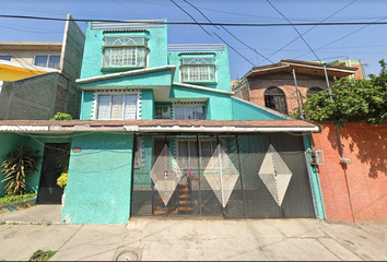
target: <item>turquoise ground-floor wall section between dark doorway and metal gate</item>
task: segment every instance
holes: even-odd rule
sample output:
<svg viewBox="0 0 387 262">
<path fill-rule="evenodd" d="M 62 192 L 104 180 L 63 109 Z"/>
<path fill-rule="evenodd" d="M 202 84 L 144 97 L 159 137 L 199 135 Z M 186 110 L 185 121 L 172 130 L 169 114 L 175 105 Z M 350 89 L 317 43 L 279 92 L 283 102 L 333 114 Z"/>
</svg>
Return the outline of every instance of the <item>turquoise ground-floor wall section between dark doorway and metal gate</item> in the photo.
<svg viewBox="0 0 387 262">
<path fill-rule="evenodd" d="M 125 225 L 130 217 L 132 133 L 74 136 L 62 219 Z"/>
</svg>

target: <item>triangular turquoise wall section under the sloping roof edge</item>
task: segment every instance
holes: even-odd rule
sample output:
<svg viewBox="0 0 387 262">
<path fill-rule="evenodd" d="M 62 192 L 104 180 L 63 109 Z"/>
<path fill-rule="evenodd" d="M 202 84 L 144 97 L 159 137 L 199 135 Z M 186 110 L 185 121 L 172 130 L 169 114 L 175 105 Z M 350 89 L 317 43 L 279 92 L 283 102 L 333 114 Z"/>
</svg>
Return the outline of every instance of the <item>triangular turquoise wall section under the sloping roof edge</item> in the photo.
<svg viewBox="0 0 387 262">
<path fill-rule="evenodd" d="M 285 120 L 263 109 L 232 98 L 234 120 Z"/>
</svg>

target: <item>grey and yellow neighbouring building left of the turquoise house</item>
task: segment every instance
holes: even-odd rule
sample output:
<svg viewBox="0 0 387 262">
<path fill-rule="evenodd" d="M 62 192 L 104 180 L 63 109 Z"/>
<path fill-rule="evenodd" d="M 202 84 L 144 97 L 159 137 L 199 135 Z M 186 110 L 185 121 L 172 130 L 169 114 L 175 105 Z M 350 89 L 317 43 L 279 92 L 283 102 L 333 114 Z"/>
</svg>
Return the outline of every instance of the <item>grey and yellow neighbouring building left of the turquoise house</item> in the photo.
<svg viewBox="0 0 387 262">
<path fill-rule="evenodd" d="M 71 19 L 68 15 L 68 19 Z M 84 34 L 68 21 L 62 43 L 0 44 L 0 119 L 45 120 L 58 111 L 79 118 Z"/>
</svg>

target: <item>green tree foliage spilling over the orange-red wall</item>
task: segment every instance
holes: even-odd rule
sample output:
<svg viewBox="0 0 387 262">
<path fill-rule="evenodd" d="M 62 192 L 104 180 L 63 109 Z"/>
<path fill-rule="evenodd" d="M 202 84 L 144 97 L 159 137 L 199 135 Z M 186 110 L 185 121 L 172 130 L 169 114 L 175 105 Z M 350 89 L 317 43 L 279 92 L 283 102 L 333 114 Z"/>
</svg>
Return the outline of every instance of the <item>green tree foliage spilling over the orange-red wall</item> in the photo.
<svg viewBox="0 0 387 262">
<path fill-rule="evenodd" d="M 328 91 L 313 95 L 304 104 L 307 120 L 380 124 L 387 118 L 387 63 L 379 61 L 380 74 L 368 80 L 343 78 Z"/>
</svg>

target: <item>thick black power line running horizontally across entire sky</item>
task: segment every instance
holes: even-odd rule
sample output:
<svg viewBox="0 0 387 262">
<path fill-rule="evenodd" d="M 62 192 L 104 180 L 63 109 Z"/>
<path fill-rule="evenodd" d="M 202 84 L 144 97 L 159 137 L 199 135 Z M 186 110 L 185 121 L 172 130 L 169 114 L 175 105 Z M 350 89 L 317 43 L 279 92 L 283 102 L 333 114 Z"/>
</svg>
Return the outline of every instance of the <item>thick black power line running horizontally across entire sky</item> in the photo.
<svg viewBox="0 0 387 262">
<path fill-rule="evenodd" d="M 13 14 L 1 14 L 0 17 L 4 19 L 28 19 L 28 20 L 48 20 L 48 21 L 73 21 L 73 22 L 110 22 L 110 23 L 138 23 L 138 21 L 124 21 L 124 20 L 84 20 L 84 19 L 57 19 L 57 17 L 44 17 L 44 16 L 28 16 L 28 15 L 13 15 Z M 383 19 L 384 20 L 384 19 Z M 166 25 L 223 25 L 223 26 L 310 26 L 310 25 L 387 25 L 387 22 L 329 22 L 329 23 L 203 23 L 203 22 L 156 22 L 146 21 L 146 24 L 166 24 Z"/>
</svg>

